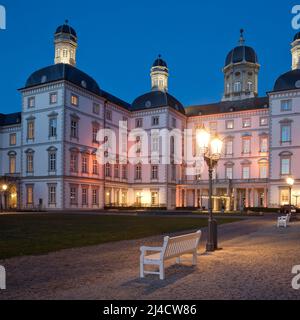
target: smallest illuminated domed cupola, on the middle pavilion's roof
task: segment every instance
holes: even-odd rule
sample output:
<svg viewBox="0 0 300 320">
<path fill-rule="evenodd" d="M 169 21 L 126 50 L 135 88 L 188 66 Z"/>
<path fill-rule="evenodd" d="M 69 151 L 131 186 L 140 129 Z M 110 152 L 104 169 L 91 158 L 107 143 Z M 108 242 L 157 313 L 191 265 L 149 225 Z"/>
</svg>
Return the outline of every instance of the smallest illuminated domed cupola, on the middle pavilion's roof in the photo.
<svg viewBox="0 0 300 320">
<path fill-rule="evenodd" d="M 151 85 L 152 91 L 168 91 L 169 69 L 167 63 L 161 55 L 154 61 L 151 68 Z"/>
</svg>

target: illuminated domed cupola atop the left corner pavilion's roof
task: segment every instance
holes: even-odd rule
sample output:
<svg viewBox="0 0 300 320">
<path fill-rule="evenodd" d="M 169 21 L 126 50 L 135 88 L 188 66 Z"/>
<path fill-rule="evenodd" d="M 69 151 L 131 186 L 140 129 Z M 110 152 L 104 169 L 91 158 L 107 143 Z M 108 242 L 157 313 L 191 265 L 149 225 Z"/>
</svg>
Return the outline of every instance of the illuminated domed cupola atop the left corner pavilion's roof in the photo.
<svg viewBox="0 0 300 320">
<path fill-rule="evenodd" d="M 68 20 L 56 29 L 54 43 L 54 63 L 64 63 L 76 66 L 77 34 L 69 25 Z"/>
</svg>

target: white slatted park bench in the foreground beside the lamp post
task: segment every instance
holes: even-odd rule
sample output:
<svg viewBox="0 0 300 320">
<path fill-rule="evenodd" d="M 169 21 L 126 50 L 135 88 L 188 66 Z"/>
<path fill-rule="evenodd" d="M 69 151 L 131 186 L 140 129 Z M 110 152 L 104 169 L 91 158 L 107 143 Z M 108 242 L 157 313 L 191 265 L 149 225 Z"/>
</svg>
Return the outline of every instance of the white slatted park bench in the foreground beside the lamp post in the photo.
<svg viewBox="0 0 300 320">
<path fill-rule="evenodd" d="M 179 237 L 165 237 L 162 247 L 141 247 L 140 257 L 140 276 L 145 274 L 157 274 L 160 280 L 165 279 L 165 261 L 177 258 L 180 263 L 180 257 L 185 254 L 193 255 L 193 265 L 197 264 L 197 249 L 201 238 L 201 231 Z M 159 272 L 145 271 L 145 265 L 154 265 L 159 267 Z"/>
</svg>

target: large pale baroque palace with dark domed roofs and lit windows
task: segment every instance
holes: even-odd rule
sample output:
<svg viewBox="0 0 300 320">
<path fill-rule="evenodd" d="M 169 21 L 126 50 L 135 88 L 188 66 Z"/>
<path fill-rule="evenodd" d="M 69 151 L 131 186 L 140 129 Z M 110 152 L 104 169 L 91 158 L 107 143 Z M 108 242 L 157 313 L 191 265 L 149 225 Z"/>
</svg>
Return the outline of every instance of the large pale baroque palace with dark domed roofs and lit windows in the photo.
<svg viewBox="0 0 300 320">
<path fill-rule="evenodd" d="M 183 106 L 169 93 L 169 68 L 159 56 L 151 88 L 132 103 L 107 91 L 76 67 L 76 31 L 66 22 L 54 36 L 54 64 L 33 72 L 20 89 L 20 113 L 0 114 L 2 208 L 80 209 L 104 207 L 207 207 L 208 173 L 189 175 L 186 163 L 160 161 L 101 164 L 100 129 L 119 137 L 119 122 L 137 128 L 193 132 L 205 126 L 224 141 L 214 172 L 214 209 L 274 207 L 290 201 L 286 178 L 300 197 L 300 33 L 292 42 L 292 70 L 266 96 L 258 94 L 259 60 L 245 45 L 243 30 L 223 68 L 224 94 L 208 105 Z M 149 149 L 158 152 L 160 137 Z M 109 137 L 104 137 L 109 145 Z M 137 144 L 139 139 L 137 139 Z M 117 145 L 128 152 L 125 142 Z M 182 140 L 182 152 L 187 146 Z M 196 150 L 196 146 L 193 145 Z M 137 157 L 139 150 L 136 150 Z M 172 151 L 171 151 L 172 153 Z M 196 151 L 195 151 L 196 153 Z M 7 186 L 3 188 L 2 186 Z M 5 190 L 4 190 L 5 189 Z"/>
</svg>

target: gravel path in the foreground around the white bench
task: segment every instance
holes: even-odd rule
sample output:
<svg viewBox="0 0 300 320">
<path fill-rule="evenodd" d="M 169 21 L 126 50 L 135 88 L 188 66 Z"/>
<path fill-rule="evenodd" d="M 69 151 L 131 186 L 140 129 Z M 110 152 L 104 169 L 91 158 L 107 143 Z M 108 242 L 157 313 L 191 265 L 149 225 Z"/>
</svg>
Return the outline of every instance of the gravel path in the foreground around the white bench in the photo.
<svg viewBox="0 0 300 320">
<path fill-rule="evenodd" d="M 291 274 L 300 265 L 300 222 L 278 230 L 274 219 L 219 228 L 223 250 L 197 267 L 167 263 L 166 280 L 139 279 L 139 247 L 162 237 L 122 241 L 0 261 L 7 270 L 1 299 L 299 299 Z"/>
</svg>

